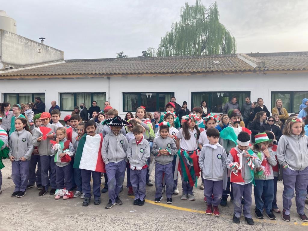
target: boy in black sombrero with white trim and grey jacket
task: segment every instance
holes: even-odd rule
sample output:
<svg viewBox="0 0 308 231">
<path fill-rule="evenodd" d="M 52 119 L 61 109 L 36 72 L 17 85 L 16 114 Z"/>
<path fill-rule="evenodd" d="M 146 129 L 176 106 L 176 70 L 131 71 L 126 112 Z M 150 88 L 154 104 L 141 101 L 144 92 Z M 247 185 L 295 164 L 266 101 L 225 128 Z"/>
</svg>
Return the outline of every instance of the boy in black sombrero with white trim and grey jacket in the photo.
<svg viewBox="0 0 308 231">
<path fill-rule="evenodd" d="M 122 120 L 120 116 L 104 120 L 103 124 L 108 125 L 111 128 L 111 132 L 104 137 L 102 145 L 102 157 L 106 166 L 106 173 L 108 177 L 109 196 L 109 201 L 105 206 L 105 209 L 111 209 L 111 207 L 115 204 L 123 204 L 119 198 L 119 193 L 124 182 L 128 142 L 120 131 L 121 127 L 131 126 L 131 124 L 125 120 Z"/>
</svg>

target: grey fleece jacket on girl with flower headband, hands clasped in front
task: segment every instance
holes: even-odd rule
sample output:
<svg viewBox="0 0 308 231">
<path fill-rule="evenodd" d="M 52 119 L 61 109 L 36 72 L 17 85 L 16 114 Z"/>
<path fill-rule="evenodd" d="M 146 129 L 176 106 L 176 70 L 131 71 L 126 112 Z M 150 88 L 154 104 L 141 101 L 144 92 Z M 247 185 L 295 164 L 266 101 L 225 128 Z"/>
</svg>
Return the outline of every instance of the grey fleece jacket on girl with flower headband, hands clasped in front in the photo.
<svg viewBox="0 0 308 231">
<path fill-rule="evenodd" d="M 160 149 L 168 149 L 171 151 L 169 155 L 158 155 L 158 151 Z M 167 136 L 166 138 L 162 138 L 161 136 L 157 137 L 153 141 L 152 153 L 155 156 L 155 161 L 158 164 L 166 165 L 173 161 L 173 156 L 177 153 L 177 148 L 175 142 L 172 138 Z"/>
</svg>

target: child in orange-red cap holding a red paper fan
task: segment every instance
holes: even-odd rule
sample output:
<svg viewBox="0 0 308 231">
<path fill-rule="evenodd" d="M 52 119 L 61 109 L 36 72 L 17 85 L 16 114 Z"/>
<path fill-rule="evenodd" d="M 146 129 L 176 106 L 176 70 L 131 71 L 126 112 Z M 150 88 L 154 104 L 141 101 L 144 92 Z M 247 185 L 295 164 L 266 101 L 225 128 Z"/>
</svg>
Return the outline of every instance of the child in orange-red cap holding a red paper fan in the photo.
<svg viewBox="0 0 308 231">
<path fill-rule="evenodd" d="M 54 140 L 57 126 L 50 124 L 50 114 L 43 112 L 40 120 L 42 125 L 34 129 L 32 136 L 32 144 L 38 147 L 38 152 L 41 160 L 42 167 L 42 190 L 39 192 L 39 196 L 45 195 L 48 192 L 49 184 L 51 185 L 50 195 L 56 192 L 56 165 L 54 156 L 51 156 L 51 140 Z M 50 178 L 49 178 L 50 177 Z"/>
</svg>

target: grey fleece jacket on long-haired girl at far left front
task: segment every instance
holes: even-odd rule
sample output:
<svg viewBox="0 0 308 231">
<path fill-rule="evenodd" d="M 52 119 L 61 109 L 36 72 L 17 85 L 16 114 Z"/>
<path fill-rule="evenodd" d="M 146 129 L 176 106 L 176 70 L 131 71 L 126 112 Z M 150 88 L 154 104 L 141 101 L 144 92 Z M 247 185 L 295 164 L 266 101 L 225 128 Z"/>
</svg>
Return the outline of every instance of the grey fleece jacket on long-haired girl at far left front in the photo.
<svg viewBox="0 0 308 231">
<path fill-rule="evenodd" d="M 22 157 L 25 157 L 26 160 L 30 160 L 34 149 L 31 141 L 31 132 L 28 132 L 25 129 L 20 132 L 15 130 L 15 132 L 10 135 L 9 156 L 14 156 L 14 160 L 20 160 Z"/>
</svg>

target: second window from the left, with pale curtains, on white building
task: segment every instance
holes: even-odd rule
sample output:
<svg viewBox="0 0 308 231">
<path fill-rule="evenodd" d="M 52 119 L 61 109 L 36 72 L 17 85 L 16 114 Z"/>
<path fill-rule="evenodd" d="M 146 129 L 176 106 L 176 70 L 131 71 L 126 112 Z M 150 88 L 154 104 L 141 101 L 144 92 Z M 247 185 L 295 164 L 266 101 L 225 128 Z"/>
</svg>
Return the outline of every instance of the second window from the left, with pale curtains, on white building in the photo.
<svg viewBox="0 0 308 231">
<path fill-rule="evenodd" d="M 85 103 L 86 107 L 92 106 L 92 101 L 97 102 L 97 106 L 104 108 L 106 93 L 60 93 L 61 111 L 73 111 L 75 106 Z"/>
</svg>

